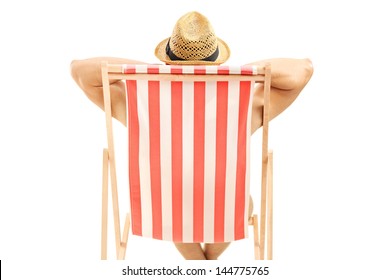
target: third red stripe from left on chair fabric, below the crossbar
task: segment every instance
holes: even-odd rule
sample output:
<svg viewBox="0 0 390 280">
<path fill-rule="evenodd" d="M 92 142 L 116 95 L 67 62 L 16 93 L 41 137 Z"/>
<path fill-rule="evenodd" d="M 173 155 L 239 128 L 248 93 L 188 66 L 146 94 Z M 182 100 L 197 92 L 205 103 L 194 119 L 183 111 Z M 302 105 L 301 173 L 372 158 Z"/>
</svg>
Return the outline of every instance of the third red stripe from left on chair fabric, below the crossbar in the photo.
<svg viewBox="0 0 390 280">
<path fill-rule="evenodd" d="M 171 83 L 172 110 L 172 238 L 183 240 L 183 83 Z"/>
</svg>

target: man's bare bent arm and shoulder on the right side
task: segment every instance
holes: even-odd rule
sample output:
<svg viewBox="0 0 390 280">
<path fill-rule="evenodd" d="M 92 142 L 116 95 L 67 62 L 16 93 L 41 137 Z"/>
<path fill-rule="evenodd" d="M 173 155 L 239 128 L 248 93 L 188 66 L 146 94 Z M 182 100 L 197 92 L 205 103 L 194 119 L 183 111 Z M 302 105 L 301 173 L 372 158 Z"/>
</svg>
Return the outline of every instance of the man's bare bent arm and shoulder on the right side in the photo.
<svg viewBox="0 0 390 280">
<path fill-rule="evenodd" d="M 271 64 L 270 119 L 289 107 L 309 82 L 313 66 L 309 59 L 275 58 L 250 63 L 264 67 Z M 256 88 L 252 107 L 252 133 L 262 126 L 264 88 Z"/>
</svg>

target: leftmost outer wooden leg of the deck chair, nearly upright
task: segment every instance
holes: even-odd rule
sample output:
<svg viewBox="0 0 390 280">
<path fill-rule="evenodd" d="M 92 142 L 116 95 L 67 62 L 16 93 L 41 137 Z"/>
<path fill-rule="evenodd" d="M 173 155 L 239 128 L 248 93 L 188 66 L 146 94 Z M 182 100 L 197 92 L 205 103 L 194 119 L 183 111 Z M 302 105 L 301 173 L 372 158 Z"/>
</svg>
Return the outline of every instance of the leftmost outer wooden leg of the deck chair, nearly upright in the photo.
<svg viewBox="0 0 390 280">
<path fill-rule="evenodd" d="M 108 221 L 108 151 L 103 150 L 103 189 L 102 189 L 102 235 L 101 259 L 107 259 L 107 221 Z"/>
</svg>

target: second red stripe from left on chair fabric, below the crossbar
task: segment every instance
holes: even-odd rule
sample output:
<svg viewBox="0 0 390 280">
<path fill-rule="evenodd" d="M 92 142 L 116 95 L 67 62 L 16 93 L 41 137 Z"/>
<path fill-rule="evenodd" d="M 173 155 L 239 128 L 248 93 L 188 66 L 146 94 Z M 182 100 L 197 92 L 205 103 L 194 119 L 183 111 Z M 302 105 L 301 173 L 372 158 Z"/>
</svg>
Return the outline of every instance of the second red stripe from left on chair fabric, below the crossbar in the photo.
<svg viewBox="0 0 390 280">
<path fill-rule="evenodd" d="M 162 239 L 161 159 L 160 159 L 160 83 L 149 81 L 150 183 L 153 238 Z"/>
</svg>

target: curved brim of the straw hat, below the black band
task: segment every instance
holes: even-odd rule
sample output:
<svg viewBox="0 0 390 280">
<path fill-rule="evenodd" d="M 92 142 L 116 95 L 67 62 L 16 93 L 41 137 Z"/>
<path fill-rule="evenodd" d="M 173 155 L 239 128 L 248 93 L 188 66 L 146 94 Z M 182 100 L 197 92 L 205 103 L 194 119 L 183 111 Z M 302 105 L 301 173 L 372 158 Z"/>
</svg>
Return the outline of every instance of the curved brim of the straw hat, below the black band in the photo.
<svg viewBox="0 0 390 280">
<path fill-rule="evenodd" d="M 230 56 L 230 49 L 229 46 L 220 38 L 218 39 L 218 49 L 219 49 L 219 55 L 218 58 L 215 61 L 205 61 L 205 60 L 171 60 L 169 56 L 166 54 L 166 46 L 168 44 L 169 38 L 164 39 L 161 41 L 155 51 L 154 54 L 156 57 L 167 63 L 167 64 L 185 64 L 185 65 L 213 65 L 213 64 L 222 64 L 226 60 L 228 60 Z"/>
</svg>

